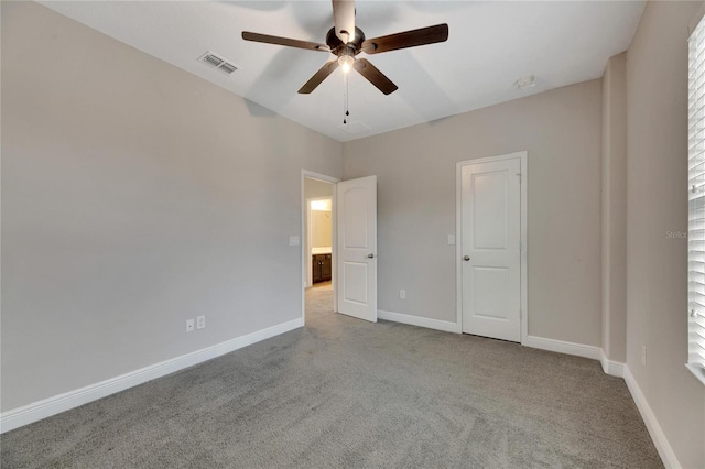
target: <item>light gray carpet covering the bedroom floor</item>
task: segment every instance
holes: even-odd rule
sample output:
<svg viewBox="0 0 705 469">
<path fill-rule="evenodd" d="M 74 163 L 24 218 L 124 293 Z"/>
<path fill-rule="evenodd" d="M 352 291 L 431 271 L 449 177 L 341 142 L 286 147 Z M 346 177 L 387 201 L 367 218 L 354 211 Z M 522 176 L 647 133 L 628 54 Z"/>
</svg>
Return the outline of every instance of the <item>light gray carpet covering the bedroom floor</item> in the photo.
<svg viewBox="0 0 705 469">
<path fill-rule="evenodd" d="M 662 467 L 596 361 L 330 312 L 0 437 L 4 468 Z"/>
</svg>

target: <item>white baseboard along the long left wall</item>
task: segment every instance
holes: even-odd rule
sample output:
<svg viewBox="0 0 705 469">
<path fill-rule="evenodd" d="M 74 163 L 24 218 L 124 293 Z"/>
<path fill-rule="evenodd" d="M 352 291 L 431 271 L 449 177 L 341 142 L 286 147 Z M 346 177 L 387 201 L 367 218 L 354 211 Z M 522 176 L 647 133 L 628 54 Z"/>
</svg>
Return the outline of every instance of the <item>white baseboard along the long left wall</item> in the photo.
<svg viewBox="0 0 705 469">
<path fill-rule="evenodd" d="M 296 318 L 0 414 L 0 434 L 303 326 Z"/>
</svg>

